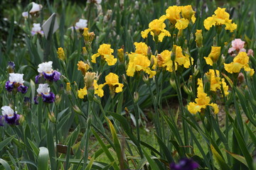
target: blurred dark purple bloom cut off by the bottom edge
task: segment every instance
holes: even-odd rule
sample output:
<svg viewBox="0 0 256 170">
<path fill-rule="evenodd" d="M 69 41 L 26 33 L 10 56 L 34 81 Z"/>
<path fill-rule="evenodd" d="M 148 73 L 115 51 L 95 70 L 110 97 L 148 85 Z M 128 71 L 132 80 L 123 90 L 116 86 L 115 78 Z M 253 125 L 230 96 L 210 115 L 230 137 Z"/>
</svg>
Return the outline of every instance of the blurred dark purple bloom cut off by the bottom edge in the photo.
<svg viewBox="0 0 256 170">
<path fill-rule="evenodd" d="M 183 158 L 178 164 L 174 162 L 170 164 L 171 170 L 194 170 L 197 169 L 199 165 L 193 161 L 193 159 Z"/>
</svg>

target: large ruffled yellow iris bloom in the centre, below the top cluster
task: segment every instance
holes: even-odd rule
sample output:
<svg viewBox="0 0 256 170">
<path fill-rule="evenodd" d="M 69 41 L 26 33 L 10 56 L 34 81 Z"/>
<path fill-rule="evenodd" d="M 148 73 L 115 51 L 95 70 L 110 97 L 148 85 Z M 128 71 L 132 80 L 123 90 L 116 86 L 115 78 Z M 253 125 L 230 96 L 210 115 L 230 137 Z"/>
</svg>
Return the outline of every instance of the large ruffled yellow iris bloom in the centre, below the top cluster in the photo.
<svg viewBox="0 0 256 170">
<path fill-rule="evenodd" d="M 135 52 L 129 54 L 129 64 L 127 68 L 127 76 L 133 77 L 134 72 L 144 71 L 149 74 L 149 78 L 154 77 L 156 71 L 150 69 L 151 60 L 147 56 L 148 46 L 144 42 L 134 42 Z M 151 57 L 155 58 L 154 55 Z M 154 60 L 154 59 L 153 59 Z"/>
</svg>

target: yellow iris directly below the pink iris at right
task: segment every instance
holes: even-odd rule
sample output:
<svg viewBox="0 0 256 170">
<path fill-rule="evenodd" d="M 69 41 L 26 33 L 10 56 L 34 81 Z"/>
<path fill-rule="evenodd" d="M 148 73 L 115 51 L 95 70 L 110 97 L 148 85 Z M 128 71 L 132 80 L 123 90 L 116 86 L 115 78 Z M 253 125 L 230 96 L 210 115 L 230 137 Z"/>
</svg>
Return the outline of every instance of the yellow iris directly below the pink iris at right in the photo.
<svg viewBox="0 0 256 170">
<path fill-rule="evenodd" d="M 224 68 L 229 73 L 238 73 L 243 68 L 245 72 L 250 72 L 250 76 L 255 73 L 254 69 L 249 67 L 249 57 L 246 52 L 239 52 L 230 64 L 224 64 Z"/>
</svg>

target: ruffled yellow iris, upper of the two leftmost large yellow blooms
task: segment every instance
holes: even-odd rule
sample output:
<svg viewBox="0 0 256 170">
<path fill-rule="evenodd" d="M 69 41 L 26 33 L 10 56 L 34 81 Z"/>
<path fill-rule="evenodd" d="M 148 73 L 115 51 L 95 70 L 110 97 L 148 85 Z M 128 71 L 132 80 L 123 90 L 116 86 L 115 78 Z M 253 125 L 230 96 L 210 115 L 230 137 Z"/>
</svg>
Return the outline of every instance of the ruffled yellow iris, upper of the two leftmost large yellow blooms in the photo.
<svg viewBox="0 0 256 170">
<path fill-rule="evenodd" d="M 92 62 L 96 63 L 96 57 L 99 57 L 101 55 L 108 65 L 114 65 L 117 62 L 117 59 L 114 58 L 114 55 L 112 55 L 114 50 L 110 48 L 110 46 L 111 45 L 108 44 L 100 45 L 97 53 L 95 55 L 92 55 Z"/>
</svg>

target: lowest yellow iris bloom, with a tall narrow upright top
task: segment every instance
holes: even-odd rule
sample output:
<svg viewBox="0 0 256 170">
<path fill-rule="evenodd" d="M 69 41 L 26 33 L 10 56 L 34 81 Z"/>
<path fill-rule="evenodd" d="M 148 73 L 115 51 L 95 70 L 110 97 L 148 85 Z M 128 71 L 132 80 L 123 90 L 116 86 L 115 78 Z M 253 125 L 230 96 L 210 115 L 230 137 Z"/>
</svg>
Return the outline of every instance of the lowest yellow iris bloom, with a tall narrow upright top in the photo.
<svg viewBox="0 0 256 170">
<path fill-rule="evenodd" d="M 216 103 L 210 103 L 210 97 L 203 91 L 203 81 L 198 79 L 198 94 L 196 102 L 191 102 L 188 104 L 188 111 L 192 114 L 201 113 L 206 106 L 212 106 L 215 114 L 219 112 L 218 106 Z"/>
</svg>

